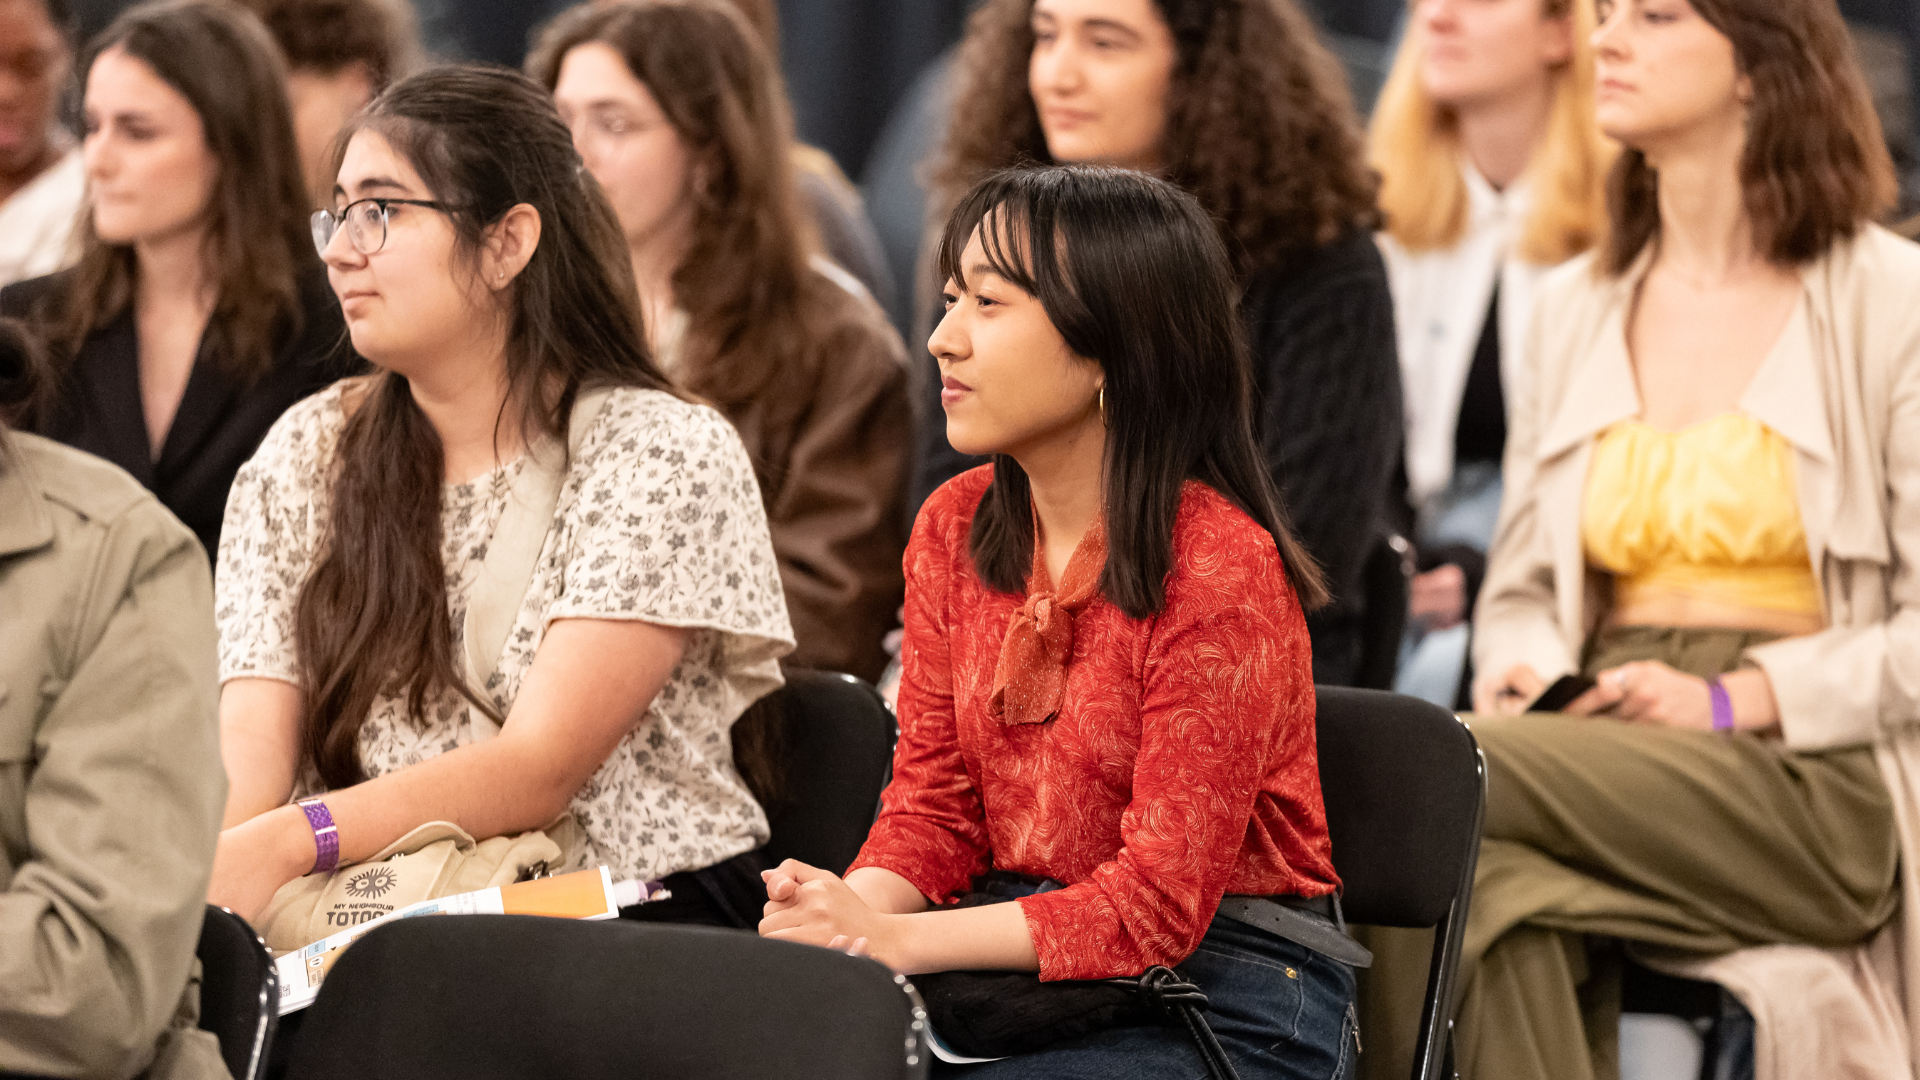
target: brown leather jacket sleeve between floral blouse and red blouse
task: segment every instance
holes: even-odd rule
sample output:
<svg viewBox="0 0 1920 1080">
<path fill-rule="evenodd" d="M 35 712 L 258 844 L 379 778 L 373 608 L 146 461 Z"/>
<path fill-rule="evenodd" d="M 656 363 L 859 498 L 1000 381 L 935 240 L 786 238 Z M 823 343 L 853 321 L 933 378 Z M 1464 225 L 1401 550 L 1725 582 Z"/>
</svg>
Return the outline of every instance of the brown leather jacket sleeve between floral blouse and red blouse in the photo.
<svg viewBox="0 0 1920 1080">
<path fill-rule="evenodd" d="M 912 405 L 891 331 L 845 325 L 826 344 L 812 409 L 768 505 L 801 667 L 877 678 L 904 578 Z"/>
</svg>

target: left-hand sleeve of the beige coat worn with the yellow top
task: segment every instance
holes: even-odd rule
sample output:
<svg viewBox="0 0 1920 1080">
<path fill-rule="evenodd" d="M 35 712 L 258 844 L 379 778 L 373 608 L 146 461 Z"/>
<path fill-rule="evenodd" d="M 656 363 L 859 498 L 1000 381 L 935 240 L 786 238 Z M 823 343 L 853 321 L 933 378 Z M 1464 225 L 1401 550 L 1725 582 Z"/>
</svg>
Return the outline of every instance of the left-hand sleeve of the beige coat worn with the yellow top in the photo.
<svg viewBox="0 0 1920 1080">
<path fill-rule="evenodd" d="M 1578 663 L 1557 617 L 1553 550 L 1536 490 L 1540 438 L 1563 384 L 1549 375 L 1557 375 L 1567 359 L 1549 354 L 1565 348 L 1551 332 L 1557 315 L 1555 306 L 1542 298 L 1528 331 L 1526 356 L 1532 357 L 1532 371 L 1507 407 L 1500 527 L 1486 553 L 1486 582 L 1473 615 L 1475 688 L 1498 682 L 1519 663 L 1532 665 L 1549 682 Z"/>
</svg>

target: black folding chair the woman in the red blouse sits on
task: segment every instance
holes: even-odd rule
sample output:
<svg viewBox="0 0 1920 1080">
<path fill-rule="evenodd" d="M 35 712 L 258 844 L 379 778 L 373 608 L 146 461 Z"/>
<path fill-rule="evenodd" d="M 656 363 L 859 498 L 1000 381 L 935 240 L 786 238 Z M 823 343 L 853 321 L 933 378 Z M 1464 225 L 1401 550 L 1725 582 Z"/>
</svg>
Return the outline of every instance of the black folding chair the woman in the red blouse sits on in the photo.
<svg viewBox="0 0 1920 1080">
<path fill-rule="evenodd" d="M 1486 761 L 1467 724 L 1438 705 L 1377 690 L 1315 692 L 1321 794 L 1346 917 L 1434 928 L 1413 1080 L 1438 1080 L 1452 1057 Z"/>
</svg>

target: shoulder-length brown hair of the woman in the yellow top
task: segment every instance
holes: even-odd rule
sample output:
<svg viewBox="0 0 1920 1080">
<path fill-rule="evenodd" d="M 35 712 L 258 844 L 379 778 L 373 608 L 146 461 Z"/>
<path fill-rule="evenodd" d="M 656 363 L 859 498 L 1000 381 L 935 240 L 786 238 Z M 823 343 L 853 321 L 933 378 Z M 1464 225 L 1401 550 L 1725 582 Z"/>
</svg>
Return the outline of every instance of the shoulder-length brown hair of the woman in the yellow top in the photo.
<svg viewBox="0 0 1920 1080">
<path fill-rule="evenodd" d="M 1753 83 L 1740 183 L 1761 254 L 1812 261 L 1897 198 L 1893 160 L 1834 0 L 1690 0 Z M 1607 179 L 1603 265 L 1626 273 L 1659 238 L 1659 175 L 1626 148 Z"/>
</svg>

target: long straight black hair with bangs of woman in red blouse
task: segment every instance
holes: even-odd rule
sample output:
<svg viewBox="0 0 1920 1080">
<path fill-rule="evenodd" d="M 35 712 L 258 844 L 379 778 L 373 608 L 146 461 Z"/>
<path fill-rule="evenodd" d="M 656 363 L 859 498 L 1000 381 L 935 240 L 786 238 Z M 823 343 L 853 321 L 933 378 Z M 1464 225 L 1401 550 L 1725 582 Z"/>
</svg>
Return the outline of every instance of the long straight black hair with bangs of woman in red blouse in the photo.
<svg viewBox="0 0 1920 1080">
<path fill-rule="evenodd" d="M 1106 373 L 1106 600 L 1135 619 L 1160 611 L 1181 488 L 1200 480 L 1273 536 L 1302 607 L 1323 605 L 1327 584 L 1254 440 L 1238 288 L 1200 202 L 1125 169 L 1008 169 L 960 200 L 941 240 L 943 279 L 966 281 L 960 254 L 975 229 L 987 265 L 1037 296 L 1068 348 Z M 1031 486 L 1004 454 L 970 546 L 981 580 L 1025 588 Z"/>
</svg>

